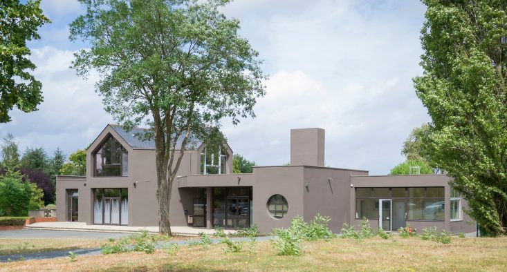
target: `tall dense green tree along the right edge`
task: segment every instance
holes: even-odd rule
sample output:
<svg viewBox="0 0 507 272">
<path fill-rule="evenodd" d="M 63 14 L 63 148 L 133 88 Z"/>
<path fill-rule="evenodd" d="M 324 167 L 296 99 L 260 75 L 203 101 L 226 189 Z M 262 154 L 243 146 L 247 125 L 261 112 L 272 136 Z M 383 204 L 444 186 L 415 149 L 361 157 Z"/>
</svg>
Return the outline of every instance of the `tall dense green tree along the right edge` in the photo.
<svg viewBox="0 0 507 272">
<path fill-rule="evenodd" d="M 507 2 L 423 0 L 424 74 L 432 166 L 454 177 L 485 233 L 507 233 Z"/>
</svg>

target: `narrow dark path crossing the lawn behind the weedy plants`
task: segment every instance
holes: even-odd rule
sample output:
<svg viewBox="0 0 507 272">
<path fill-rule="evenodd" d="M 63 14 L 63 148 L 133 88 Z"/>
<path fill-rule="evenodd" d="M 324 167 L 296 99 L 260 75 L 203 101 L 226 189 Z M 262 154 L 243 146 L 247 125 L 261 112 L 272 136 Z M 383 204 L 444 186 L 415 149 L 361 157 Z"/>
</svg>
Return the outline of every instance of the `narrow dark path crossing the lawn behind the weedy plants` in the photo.
<svg viewBox="0 0 507 272">
<path fill-rule="evenodd" d="M 256 237 L 257 241 L 268 241 L 273 239 L 274 236 L 261 236 Z M 230 240 L 233 241 L 244 241 L 247 242 L 250 240 L 248 237 L 232 237 Z M 174 241 L 174 242 L 158 242 L 155 245 L 156 249 L 163 249 L 168 244 L 178 244 L 178 245 L 187 245 L 190 241 L 199 241 L 199 239 L 189 239 L 183 241 Z M 219 238 L 212 238 L 213 244 L 218 244 L 220 242 Z M 71 250 L 76 255 L 80 256 L 93 256 L 100 255 L 100 249 L 75 249 Z M 14 261 L 22 261 L 22 260 L 43 260 L 43 259 L 53 259 L 53 258 L 63 258 L 68 257 L 68 253 L 70 251 L 50 251 L 50 252 L 41 252 L 41 253 L 30 253 L 30 254 L 15 254 L 15 255 L 0 255 L 0 262 L 14 262 Z"/>
</svg>

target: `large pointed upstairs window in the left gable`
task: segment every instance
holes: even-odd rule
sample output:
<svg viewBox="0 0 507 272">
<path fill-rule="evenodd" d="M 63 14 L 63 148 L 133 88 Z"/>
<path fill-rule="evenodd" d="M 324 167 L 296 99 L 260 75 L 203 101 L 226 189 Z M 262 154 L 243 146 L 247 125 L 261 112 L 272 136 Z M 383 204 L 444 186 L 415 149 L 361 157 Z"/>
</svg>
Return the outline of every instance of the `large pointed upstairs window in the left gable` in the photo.
<svg viewBox="0 0 507 272">
<path fill-rule="evenodd" d="M 127 177 L 127 150 L 112 136 L 93 154 L 95 158 L 95 176 Z"/>
</svg>

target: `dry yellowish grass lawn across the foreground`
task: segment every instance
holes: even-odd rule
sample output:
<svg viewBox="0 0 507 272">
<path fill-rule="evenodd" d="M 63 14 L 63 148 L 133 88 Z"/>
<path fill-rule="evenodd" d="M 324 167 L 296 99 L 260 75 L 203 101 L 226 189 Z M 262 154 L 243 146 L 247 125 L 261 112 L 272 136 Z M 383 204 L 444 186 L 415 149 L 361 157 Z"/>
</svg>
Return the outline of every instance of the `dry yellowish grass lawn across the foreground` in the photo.
<svg viewBox="0 0 507 272">
<path fill-rule="evenodd" d="M 305 242 L 301 256 L 279 256 L 272 242 L 255 253 L 224 253 L 223 244 L 180 246 L 168 254 L 119 253 L 75 260 L 33 260 L 0 264 L 0 270 L 28 271 L 506 271 L 507 237 L 459 238 L 437 244 L 417 237 L 379 237 L 356 242 L 335 238 Z"/>
</svg>

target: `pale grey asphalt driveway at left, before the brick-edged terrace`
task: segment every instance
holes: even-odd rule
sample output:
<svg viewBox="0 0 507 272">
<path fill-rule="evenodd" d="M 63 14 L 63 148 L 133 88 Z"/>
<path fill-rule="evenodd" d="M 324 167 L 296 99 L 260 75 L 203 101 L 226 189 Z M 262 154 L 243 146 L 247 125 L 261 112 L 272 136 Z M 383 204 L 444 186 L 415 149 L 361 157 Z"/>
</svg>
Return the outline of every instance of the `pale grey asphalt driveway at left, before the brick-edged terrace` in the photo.
<svg viewBox="0 0 507 272">
<path fill-rule="evenodd" d="M 96 231 L 49 231 L 41 229 L 17 229 L 13 231 L 0 231 L 0 238 L 117 239 L 121 237 L 126 237 L 129 234 L 130 233 L 102 233 Z"/>
</svg>

